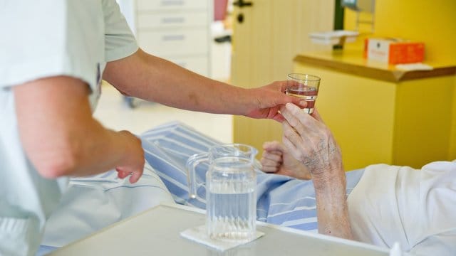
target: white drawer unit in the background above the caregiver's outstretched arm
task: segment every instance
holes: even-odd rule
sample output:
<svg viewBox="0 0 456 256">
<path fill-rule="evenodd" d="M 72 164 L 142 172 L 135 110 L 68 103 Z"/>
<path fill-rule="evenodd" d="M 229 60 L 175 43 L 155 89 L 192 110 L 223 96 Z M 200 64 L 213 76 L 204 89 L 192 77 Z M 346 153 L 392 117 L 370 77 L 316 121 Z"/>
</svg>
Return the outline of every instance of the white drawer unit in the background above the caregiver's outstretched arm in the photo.
<svg viewBox="0 0 456 256">
<path fill-rule="evenodd" d="M 201 75 L 210 76 L 212 0 L 136 0 L 139 46 Z"/>
</svg>

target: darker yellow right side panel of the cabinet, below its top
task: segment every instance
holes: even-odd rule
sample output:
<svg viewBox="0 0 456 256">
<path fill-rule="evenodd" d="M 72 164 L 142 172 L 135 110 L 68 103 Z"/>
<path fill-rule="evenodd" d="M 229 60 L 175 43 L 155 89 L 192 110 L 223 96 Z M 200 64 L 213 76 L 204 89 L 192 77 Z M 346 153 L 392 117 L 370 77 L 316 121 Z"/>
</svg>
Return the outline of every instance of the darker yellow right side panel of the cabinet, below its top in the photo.
<svg viewBox="0 0 456 256">
<path fill-rule="evenodd" d="M 393 163 L 419 168 L 430 161 L 451 159 L 453 81 L 451 76 L 440 76 L 398 83 Z"/>
</svg>

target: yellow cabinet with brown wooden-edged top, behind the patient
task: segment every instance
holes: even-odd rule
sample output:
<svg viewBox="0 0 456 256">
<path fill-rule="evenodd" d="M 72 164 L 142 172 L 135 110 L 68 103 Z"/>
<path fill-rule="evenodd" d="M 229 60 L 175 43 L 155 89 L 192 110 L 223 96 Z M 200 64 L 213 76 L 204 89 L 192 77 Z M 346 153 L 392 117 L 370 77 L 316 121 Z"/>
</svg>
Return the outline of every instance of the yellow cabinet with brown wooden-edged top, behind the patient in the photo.
<svg viewBox="0 0 456 256">
<path fill-rule="evenodd" d="M 400 71 L 358 51 L 303 53 L 297 73 L 322 78 L 316 107 L 341 145 L 346 170 L 423 166 L 455 156 L 456 68 Z"/>
</svg>

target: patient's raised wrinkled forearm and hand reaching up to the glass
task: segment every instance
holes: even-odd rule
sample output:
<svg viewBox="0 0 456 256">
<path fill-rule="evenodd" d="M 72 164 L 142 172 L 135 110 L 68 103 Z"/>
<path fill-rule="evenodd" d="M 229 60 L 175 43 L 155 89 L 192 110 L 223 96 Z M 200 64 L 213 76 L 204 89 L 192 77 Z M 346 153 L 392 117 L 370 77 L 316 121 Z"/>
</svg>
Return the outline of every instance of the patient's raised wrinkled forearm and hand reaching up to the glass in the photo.
<svg viewBox="0 0 456 256">
<path fill-rule="evenodd" d="M 346 176 L 341 150 L 317 111 L 306 114 L 287 104 L 284 145 L 311 173 L 316 193 L 318 232 L 353 239 L 346 202 Z"/>
</svg>

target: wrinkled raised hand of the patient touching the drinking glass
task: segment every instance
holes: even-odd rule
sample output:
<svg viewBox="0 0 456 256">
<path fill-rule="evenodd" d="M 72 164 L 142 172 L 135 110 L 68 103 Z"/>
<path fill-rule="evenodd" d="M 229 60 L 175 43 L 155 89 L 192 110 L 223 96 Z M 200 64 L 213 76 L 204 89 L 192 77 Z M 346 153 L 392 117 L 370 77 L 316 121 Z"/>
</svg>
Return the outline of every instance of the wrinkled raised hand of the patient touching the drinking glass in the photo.
<svg viewBox="0 0 456 256">
<path fill-rule="evenodd" d="M 306 114 L 287 104 L 281 108 L 286 121 L 283 142 L 290 153 L 310 171 L 312 178 L 343 174 L 341 149 L 316 110 Z"/>
</svg>

